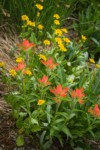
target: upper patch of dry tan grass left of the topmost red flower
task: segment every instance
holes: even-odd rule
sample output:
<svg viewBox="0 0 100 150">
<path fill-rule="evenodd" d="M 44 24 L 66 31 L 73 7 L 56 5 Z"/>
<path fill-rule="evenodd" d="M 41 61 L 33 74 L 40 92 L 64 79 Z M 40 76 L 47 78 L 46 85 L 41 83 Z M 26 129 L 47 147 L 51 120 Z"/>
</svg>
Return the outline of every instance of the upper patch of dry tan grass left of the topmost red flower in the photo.
<svg viewBox="0 0 100 150">
<path fill-rule="evenodd" d="M 19 37 L 14 25 L 10 25 L 8 22 L 3 21 L 0 23 L 0 61 L 6 63 L 6 69 L 14 66 L 14 55 L 11 56 L 12 50 L 16 44 L 19 43 Z"/>
</svg>

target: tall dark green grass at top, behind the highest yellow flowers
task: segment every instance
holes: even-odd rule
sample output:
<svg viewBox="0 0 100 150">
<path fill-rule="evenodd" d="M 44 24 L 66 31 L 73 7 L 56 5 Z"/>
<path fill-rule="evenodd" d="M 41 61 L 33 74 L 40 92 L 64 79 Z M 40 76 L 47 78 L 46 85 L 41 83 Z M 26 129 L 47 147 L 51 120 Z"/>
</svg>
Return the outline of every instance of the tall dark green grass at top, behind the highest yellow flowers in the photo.
<svg viewBox="0 0 100 150">
<path fill-rule="evenodd" d="M 59 12 L 59 15 L 62 16 L 62 24 L 64 20 L 73 12 L 75 6 L 75 0 L 71 1 L 31 1 L 31 0 L 1 0 L 3 9 L 7 10 L 10 14 L 10 17 L 16 22 L 17 26 L 21 25 L 21 16 L 26 14 L 31 20 L 35 20 L 37 10 L 35 5 L 39 3 L 43 5 L 43 11 L 41 11 L 40 21 L 42 21 L 45 26 L 45 31 L 49 31 L 50 25 L 52 24 L 52 15 L 56 12 Z M 63 11 L 66 10 L 66 11 Z M 48 20 L 48 21 L 46 21 Z"/>
</svg>

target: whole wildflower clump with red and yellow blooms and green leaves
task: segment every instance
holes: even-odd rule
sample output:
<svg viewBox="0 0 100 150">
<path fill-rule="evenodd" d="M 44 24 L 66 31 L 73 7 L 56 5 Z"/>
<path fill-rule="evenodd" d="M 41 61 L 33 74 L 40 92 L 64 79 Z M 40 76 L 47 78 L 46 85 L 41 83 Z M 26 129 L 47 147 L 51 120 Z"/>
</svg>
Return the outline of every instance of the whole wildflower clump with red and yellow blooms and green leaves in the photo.
<svg viewBox="0 0 100 150">
<path fill-rule="evenodd" d="M 15 118 L 4 120 L 1 114 L 1 129 L 5 122 L 9 126 L 11 122 L 11 128 L 16 130 L 13 134 L 16 144 L 21 148 L 27 143 L 26 138 L 29 141 L 26 147 L 35 140 L 35 148 L 43 150 L 65 147 L 91 150 L 93 143 L 99 148 L 99 57 L 94 60 L 94 55 L 88 52 L 86 35 L 71 38 L 74 30 L 62 25 L 58 12 L 51 14 L 52 23 L 47 30 L 41 19 L 42 11 L 45 12 L 43 4 L 42 1 L 34 4 L 37 12 L 34 20 L 26 14 L 21 16 L 20 40 L 9 53 L 13 65 L 9 67 L 3 59 L 0 62 L 2 86 L 6 85 L 4 98 Z M 99 42 L 92 40 L 99 47 Z"/>
</svg>

